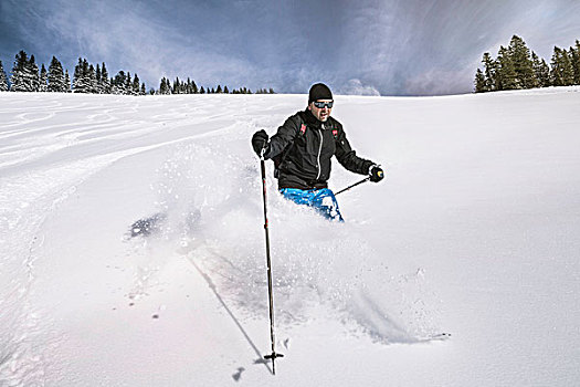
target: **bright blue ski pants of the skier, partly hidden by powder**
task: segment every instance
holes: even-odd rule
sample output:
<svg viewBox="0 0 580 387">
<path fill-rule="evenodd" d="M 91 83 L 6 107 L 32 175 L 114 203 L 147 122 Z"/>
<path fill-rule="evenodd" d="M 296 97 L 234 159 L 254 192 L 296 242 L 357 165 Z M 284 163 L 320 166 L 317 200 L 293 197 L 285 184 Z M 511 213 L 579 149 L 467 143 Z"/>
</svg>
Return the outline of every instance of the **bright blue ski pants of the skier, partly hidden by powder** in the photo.
<svg viewBox="0 0 580 387">
<path fill-rule="evenodd" d="M 285 199 L 292 200 L 297 205 L 313 207 L 329 220 L 345 221 L 338 209 L 338 201 L 336 201 L 335 194 L 328 188 L 308 190 L 283 188 L 280 192 Z"/>
</svg>

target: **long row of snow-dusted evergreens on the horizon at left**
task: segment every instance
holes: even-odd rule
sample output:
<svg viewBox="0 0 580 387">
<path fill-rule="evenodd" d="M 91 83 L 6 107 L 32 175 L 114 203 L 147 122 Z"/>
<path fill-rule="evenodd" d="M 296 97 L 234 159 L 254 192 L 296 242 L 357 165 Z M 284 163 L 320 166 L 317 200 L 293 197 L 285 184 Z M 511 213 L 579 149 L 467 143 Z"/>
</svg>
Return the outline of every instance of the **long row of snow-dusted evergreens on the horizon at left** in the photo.
<svg viewBox="0 0 580 387">
<path fill-rule="evenodd" d="M 91 93 L 91 94 L 123 94 L 123 95 L 145 95 L 145 94 L 253 94 L 247 87 L 240 87 L 230 91 L 228 86 L 198 88 L 194 82 L 188 79 L 187 83 L 177 77 L 173 83 L 162 77 L 159 88 L 150 88 L 148 92 L 145 82 L 140 82 L 137 74 L 120 70 L 115 76 L 109 77 L 105 62 L 92 64 L 86 59 L 78 59 L 73 73 L 73 80 L 68 75 L 68 70 L 63 69 L 62 63 L 52 57 L 49 69 L 44 63 L 39 70 L 34 55 L 21 50 L 14 61 L 10 82 L 0 61 L 0 92 L 56 92 L 56 93 Z M 274 94 L 274 90 L 260 88 L 256 94 Z"/>
</svg>

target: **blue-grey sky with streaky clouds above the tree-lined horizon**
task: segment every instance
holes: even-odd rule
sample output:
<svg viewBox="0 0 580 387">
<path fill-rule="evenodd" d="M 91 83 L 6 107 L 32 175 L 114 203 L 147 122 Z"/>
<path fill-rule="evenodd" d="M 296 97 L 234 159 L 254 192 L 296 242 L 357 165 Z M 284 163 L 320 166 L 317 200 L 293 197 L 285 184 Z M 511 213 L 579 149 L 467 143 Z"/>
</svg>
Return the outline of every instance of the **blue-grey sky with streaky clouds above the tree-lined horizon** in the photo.
<svg viewBox="0 0 580 387">
<path fill-rule="evenodd" d="M 198 86 L 335 94 L 473 91 L 484 52 L 514 34 L 549 63 L 580 39 L 580 0 L 0 0 L 0 60 L 15 54 L 68 72 L 78 57 L 109 76 L 137 73 Z"/>
</svg>

